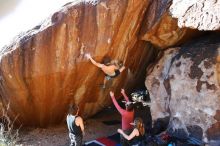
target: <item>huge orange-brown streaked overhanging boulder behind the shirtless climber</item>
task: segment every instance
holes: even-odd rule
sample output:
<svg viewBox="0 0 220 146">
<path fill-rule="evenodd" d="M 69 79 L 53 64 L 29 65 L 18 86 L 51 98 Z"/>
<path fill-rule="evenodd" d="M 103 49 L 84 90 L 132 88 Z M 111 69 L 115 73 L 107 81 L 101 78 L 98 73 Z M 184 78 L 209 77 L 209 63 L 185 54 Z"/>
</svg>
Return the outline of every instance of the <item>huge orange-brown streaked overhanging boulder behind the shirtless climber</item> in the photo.
<svg viewBox="0 0 220 146">
<path fill-rule="evenodd" d="M 110 90 L 140 83 L 154 52 L 137 35 L 148 3 L 69 3 L 15 38 L 0 54 L 0 94 L 4 106 L 10 103 L 10 116 L 23 125 L 46 126 L 60 123 L 75 103 L 90 117 L 112 103 Z M 99 62 L 104 56 L 122 60 L 127 69 L 102 89 L 104 74 L 85 53 Z"/>
</svg>

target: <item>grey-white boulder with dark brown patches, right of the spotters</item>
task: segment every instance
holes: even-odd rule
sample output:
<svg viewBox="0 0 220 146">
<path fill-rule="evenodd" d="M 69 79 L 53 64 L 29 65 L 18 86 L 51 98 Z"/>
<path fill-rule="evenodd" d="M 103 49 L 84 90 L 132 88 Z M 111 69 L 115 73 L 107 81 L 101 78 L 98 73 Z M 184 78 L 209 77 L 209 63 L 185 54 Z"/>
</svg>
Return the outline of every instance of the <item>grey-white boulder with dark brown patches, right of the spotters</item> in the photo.
<svg viewBox="0 0 220 146">
<path fill-rule="evenodd" d="M 186 125 L 200 126 L 208 140 L 220 137 L 219 46 L 219 35 L 199 38 L 166 50 L 147 69 L 154 120 L 176 116 Z"/>
</svg>

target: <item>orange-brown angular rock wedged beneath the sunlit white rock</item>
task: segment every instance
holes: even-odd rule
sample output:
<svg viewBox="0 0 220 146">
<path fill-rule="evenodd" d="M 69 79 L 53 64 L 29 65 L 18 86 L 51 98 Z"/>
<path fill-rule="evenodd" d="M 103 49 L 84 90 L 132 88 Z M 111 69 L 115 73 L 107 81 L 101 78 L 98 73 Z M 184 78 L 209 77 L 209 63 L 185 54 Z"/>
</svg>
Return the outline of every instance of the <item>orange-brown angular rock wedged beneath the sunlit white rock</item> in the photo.
<svg viewBox="0 0 220 146">
<path fill-rule="evenodd" d="M 179 45 L 199 35 L 197 30 L 180 28 L 169 13 L 170 0 L 152 0 L 142 22 L 140 36 L 160 49 Z"/>
</svg>

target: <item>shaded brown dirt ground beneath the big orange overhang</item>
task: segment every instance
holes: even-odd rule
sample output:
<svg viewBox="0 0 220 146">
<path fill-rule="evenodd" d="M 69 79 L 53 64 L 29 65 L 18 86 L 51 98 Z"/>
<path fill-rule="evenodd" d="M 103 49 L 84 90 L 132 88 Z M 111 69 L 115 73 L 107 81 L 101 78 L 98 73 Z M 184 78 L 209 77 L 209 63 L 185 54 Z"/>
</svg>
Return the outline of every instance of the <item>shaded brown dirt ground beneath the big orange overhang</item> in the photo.
<svg viewBox="0 0 220 146">
<path fill-rule="evenodd" d="M 121 124 L 106 125 L 103 121 L 120 121 L 120 114 L 112 107 L 104 109 L 93 118 L 84 121 L 85 136 L 83 141 L 113 135 Z M 19 132 L 19 146 L 69 146 L 66 123 L 58 126 L 43 128 L 25 128 Z"/>
</svg>

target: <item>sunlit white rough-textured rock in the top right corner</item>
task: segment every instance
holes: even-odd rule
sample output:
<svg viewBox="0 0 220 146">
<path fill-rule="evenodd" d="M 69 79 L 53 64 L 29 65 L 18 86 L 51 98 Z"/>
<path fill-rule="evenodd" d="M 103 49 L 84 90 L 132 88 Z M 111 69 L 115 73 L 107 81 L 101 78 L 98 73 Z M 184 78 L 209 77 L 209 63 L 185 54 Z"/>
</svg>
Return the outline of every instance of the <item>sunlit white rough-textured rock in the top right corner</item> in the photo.
<svg viewBox="0 0 220 146">
<path fill-rule="evenodd" d="M 173 0 L 170 12 L 180 28 L 220 29 L 220 0 Z"/>
</svg>

